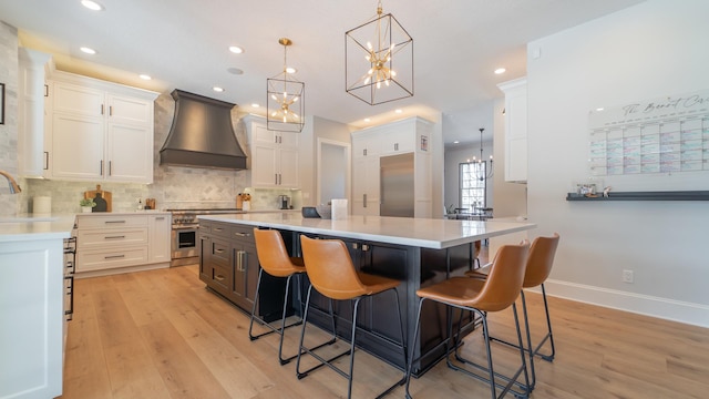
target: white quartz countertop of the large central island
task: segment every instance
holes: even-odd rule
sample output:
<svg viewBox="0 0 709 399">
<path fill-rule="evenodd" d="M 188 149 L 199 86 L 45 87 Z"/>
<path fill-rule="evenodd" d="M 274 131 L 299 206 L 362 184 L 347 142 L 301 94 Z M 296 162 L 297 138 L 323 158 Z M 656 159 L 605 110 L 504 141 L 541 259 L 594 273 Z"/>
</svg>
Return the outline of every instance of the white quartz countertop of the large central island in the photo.
<svg viewBox="0 0 709 399">
<path fill-rule="evenodd" d="M 300 214 L 251 213 L 197 216 L 202 221 L 270 227 L 423 248 L 448 248 L 535 228 L 527 222 L 446 221 L 433 218 L 348 216 L 347 219 L 304 218 Z"/>
</svg>

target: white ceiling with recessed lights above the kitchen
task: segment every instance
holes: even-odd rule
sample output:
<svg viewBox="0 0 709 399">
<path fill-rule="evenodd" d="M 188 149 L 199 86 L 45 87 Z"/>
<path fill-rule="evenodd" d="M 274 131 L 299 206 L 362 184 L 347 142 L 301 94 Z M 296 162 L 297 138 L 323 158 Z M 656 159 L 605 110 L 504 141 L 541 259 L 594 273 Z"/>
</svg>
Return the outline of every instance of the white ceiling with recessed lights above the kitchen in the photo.
<svg viewBox="0 0 709 399">
<path fill-rule="evenodd" d="M 415 92 L 371 106 L 345 92 L 343 58 L 345 32 L 376 14 L 376 0 L 96 1 L 103 11 L 90 11 L 79 0 L 0 0 L 0 20 L 19 29 L 21 45 L 52 53 L 60 70 L 161 93 L 181 89 L 245 112 L 255 112 L 254 102 L 265 104 L 266 79 L 282 69 L 278 39 L 287 37 L 294 41 L 288 64 L 306 83 L 306 114 L 356 127 L 460 112 L 500 98 L 497 83 L 525 75 L 527 42 L 641 2 L 382 0 L 384 13 L 413 38 Z M 227 48 L 235 44 L 245 52 L 230 53 Z M 493 74 L 499 66 L 507 72 Z M 230 68 L 244 74 L 232 74 Z M 140 73 L 154 79 L 143 81 Z M 214 85 L 226 91 L 216 93 Z M 397 108 L 403 114 L 394 115 Z M 474 139 L 444 137 L 446 143 Z"/>
</svg>

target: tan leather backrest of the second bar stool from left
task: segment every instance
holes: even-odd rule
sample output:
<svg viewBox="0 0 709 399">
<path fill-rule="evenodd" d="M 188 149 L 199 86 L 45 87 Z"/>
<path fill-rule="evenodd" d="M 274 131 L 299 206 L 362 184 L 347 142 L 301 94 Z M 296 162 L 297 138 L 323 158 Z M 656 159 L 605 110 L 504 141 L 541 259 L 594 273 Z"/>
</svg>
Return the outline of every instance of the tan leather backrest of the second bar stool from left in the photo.
<svg viewBox="0 0 709 399">
<path fill-rule="evenodd" d="M 338 300 L 369 294 L 343 242 L 300 236 L 300 243 L 308 278 L 318 293 Z"/>
</svg>

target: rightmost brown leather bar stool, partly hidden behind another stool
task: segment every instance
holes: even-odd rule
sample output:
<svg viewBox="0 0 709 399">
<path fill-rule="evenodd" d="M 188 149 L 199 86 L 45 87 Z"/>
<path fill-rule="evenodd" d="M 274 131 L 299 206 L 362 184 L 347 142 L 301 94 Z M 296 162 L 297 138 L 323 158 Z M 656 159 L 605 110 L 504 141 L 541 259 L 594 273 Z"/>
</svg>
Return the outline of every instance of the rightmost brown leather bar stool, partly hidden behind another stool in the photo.
<svg viewBox="0 0 709 399">
<path fill-rule="evenodd" d="M 552 266 L 554 265 L 554 256 L 556 255 L 556 248 L 558 247 L 559 235 L 554 233 L 551 237 L 536 237 L 532 243 L 532 247 L 530 248 L 530 257 L 527 258 L 526 270 L 524 274 L 524 282 L 522 283 L 522 288 L 534 288 L 542 287 L 542 298 L 544 299 L 544 313 L 546 314 L 546 335 L 540 342 L 533 347 L 532 346 L 532 335 L 530 334 L 530 320 L 527 316 L 527 304 L 524 297 L 524 289 L 520 293 L 522 297 L 522 314 L 524 315 L 524 328 L 526 329 L 526 338 L 527 338 L 527 347 L 525 350 L 530 354 L 530 368 L 532 369 L 532 385 L 531 388 L 534 389 L 536 385 L 536 374 L 534 371 L 534 357 L 540 356 L 542 359 L 546 361 L 554 361 L 554 356 L 556 355 L 556 347 L 554 346 L 554 335 L 552 334 L 552 319 L 549 318 L 549 307 L 546 303 L 546 290 L 544 289 L 544 282 L 548 278 L 552 273 Z M 490 269 L 484 267 L 483 269 L 476 269 L 466 272 L 465 274 L 470 277 L 474 278 L 487 278 L 487 273 Z M 515 344 L 505 341 L 500 338 L 491 337 L 492 340 L 516 347 Z M 545 355 L 540 352 L 540 349 L 549 341 L 551 354 Z"/>
</svg>

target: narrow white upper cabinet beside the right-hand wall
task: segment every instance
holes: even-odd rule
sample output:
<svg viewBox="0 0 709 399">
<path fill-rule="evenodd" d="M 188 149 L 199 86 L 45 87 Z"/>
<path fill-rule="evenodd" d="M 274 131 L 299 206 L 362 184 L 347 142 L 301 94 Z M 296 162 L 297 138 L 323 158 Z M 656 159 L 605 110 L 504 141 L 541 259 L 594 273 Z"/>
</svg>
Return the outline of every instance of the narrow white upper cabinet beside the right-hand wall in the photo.
<svg viewBox="0 0 709 399">
<path fill-rule="evenodd" d="M 500 83 L 505 93 L 505 181 L 527 181 L 527 80 Z"/>
</svg>

